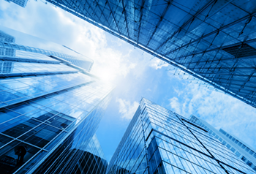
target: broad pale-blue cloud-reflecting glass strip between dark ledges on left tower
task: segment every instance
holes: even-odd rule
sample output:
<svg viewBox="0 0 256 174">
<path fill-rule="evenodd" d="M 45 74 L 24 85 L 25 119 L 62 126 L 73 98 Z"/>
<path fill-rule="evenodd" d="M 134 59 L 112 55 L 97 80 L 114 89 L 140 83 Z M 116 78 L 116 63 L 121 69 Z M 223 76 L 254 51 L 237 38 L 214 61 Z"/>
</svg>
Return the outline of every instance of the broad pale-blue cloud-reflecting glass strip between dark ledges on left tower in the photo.
<svg viewBox="0 0 256 174">
<path fill-rule="evenodd" d="M 81 73 L 0 80 L 0 107 L 91 81 Z"/>
</svg>

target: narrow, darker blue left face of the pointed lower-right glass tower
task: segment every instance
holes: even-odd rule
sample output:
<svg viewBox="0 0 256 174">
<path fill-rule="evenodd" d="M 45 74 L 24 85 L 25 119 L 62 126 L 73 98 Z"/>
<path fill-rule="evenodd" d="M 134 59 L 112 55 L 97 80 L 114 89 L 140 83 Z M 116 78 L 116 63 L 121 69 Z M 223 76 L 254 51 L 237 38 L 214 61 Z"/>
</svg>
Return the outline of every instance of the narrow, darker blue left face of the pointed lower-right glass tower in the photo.
<svg viewBox="0 0 256 174">
<path fill-rule="evenodd" d="M 146 158 L 145 137 L 138 109 L 110 160 L 107 173 L 148 173 Z"/>
</svg>

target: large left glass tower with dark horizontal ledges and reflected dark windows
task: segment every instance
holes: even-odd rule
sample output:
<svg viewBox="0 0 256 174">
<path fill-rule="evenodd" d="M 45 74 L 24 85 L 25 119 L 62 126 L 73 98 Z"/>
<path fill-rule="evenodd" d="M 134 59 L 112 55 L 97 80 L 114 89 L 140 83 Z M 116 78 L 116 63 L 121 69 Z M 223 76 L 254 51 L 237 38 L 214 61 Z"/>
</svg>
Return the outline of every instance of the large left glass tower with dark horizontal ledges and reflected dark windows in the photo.
<svg viewBox="0 0 256 174">
<path fill-rule="evenodd" d="M 0 173 L 105 171 L 94 134 L 113 86 L 50 52 L 25 50 L 0 57 Z"/>
</svg>

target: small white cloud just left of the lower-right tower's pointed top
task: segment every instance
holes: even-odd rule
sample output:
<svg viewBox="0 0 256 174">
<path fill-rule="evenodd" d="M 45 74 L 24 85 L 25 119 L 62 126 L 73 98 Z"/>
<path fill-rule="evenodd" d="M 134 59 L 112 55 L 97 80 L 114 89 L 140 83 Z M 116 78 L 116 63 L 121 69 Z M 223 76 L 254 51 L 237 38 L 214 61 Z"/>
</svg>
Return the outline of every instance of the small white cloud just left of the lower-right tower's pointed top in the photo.
<svg viewBox="0 0 256 174">
<path fill-rule="evenodd" d="M 122 118 L 126 118 L 128 120 L 132 119 L 140 105 L 138 102 L 131 103 L 125 99 L 116 99 L 116 102 L 119 104 L 119 113 L 121 113 Z"/>
</svg>

